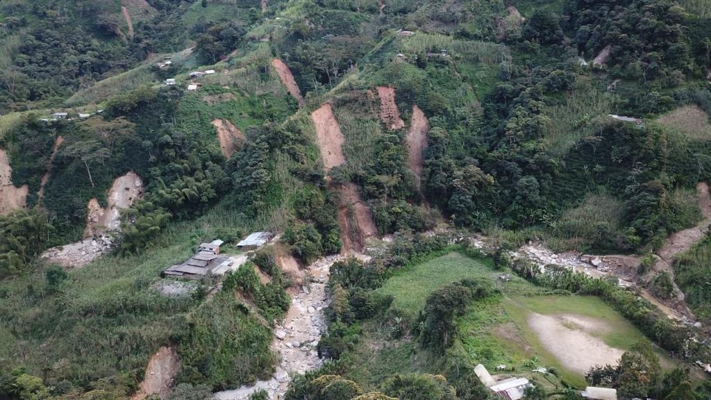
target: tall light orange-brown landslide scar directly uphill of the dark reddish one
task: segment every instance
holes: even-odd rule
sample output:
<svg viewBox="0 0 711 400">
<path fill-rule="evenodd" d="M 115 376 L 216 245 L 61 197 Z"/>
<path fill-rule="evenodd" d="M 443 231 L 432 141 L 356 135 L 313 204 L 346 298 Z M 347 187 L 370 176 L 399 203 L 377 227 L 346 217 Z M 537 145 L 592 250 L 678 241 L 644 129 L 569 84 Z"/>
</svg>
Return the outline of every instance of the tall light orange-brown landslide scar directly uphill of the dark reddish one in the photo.
<svg viewBox="0 0 711 400">
<path fill-rule="evenodd" d="M 324 160 L 324 168 L 326 172 L 333 167 L 346 162 L 346 157 L 343 156 L 343 133 L 341 126 L 338 125 L 336 117 L 333 115 L 333 107 L 326 103 L 318 110 L 311 112 L 311 119 L 314 120 L 316 127 L 316 138 L 319 140 L 319 150 L 321 151 L 321 159 Z"/>
</svg>

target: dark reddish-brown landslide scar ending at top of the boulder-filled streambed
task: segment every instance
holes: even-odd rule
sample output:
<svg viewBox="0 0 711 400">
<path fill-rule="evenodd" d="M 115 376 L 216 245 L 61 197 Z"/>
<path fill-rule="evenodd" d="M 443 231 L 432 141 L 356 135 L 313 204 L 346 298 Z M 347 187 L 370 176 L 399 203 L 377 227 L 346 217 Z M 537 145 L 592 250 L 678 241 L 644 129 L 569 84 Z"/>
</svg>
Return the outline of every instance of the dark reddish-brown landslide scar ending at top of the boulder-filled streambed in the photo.
<svg viewBox="0 0 711 400">
<path fill-rule="evenodd" d="M 362 251 L 365 239 L 378 235 L 373 222 L 370 206 L 360 199 L 358 186 L 349 182 L 345 185 L 331 185 L 340 195 L 338 205 L 338 226 L 341 227 L 343 253 Z"/>
</svg>

